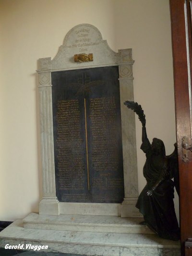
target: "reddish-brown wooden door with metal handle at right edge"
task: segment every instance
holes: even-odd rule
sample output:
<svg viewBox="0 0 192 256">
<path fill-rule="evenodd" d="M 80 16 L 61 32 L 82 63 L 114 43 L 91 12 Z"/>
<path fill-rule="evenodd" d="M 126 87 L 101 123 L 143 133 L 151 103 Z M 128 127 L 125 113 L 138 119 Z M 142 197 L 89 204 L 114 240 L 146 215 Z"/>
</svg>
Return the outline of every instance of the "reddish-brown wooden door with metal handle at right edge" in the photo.
<svg viewBox="0 0 192 256">
<path fill-rule="evenodd" d="M 185 242 L 192 238 L 192 152 L 186 149 L 192 145 L 192 1 L 169 2 L 179 154 L 181 252 L 185 255 Z M 190 249 L 188 247 L 186 250 Z"/>
</svg>

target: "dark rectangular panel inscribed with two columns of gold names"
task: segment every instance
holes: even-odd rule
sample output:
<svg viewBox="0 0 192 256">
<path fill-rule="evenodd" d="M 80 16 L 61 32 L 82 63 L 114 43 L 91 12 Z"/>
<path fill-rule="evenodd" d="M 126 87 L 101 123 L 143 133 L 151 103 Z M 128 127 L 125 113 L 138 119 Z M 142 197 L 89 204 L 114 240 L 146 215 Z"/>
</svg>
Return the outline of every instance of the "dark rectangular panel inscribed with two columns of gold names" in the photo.
<svg viewBox="0 0 192 256">
<path fill-rule="evenodd" d="M 118 67 L 52 73 L 56 195 L 60 202 L 124 198 Z"/>
</svg>

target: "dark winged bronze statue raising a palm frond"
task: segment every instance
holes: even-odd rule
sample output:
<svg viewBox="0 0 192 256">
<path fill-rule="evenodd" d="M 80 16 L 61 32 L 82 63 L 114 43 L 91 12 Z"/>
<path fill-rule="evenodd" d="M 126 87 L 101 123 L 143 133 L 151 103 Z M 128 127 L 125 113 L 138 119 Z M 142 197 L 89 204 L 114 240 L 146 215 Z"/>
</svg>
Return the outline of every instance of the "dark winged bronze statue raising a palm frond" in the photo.
<svg viewBox="0 0 192 256">
<path fill-rule="evenodd" d="M 136 112 L 143 126 L 141 149 L 146 156 L 143 173 L 147 184 L 139 195 L 136 207 L 144 215 L 147 226 L 160 237 L 179 240 L 180 231 L 173 202 L 174 185 L 179 193 L 176 145 L 174 152 L 166 156 L 162 140 L 154 138 L 150 144 L 141 105 L 134 101 L 125 101 L 124 104 Z"/>
</svg>

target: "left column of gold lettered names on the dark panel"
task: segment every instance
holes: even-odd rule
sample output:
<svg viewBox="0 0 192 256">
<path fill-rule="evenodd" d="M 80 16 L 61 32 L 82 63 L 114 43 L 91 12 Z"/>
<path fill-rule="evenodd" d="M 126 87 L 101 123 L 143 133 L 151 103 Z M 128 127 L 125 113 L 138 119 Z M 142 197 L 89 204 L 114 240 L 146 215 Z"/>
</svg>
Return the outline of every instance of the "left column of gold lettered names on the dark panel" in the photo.
<svg viewBox="0 0 192 256">
<path fill-rule="evenodd" d="M 78 100 L 59 100 L 56 121 L 60 189 L 84 190 L 83 139 Z"/>
</svg>

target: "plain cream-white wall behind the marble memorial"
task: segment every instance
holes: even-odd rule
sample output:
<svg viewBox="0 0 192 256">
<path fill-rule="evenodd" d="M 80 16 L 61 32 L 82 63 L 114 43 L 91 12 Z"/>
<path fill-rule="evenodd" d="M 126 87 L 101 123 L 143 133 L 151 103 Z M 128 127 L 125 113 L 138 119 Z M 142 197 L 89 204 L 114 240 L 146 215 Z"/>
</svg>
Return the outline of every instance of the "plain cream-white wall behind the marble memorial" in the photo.
<svg viewBox="0 0 192 256">
<path fill-rule="evenodd" d="M 132 48 L 135 101 L 148 137 L 176 141 L 168 0 L 0 0 L 0 220 L 38 211 L 42 196 L 37 60 L 54 58 L 75 25 L 95 25 L 111 49 Z M 139 191 L 145 156 L 136 117 Z M 177 202 L 178 204 L 178 202 Z M 177 206 L 178 212 L 178 206 Z"/>
</svg>

